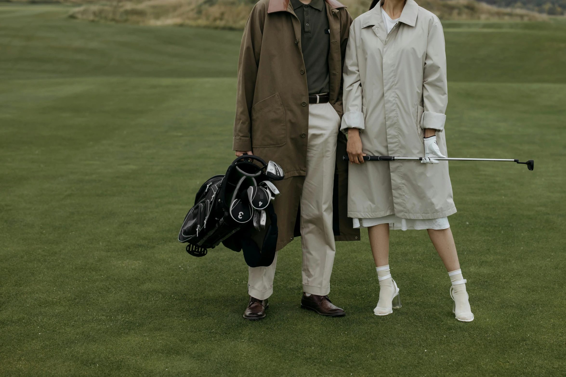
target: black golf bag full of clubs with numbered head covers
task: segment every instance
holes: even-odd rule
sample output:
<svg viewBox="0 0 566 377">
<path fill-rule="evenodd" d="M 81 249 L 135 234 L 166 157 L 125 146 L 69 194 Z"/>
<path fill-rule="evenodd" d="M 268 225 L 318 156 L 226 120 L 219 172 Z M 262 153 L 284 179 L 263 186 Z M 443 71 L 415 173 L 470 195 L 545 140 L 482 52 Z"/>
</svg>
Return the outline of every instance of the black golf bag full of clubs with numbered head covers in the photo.
<svg viewBox="0 0 566 377">
<path fill-rule="evenodd" d="M 235 252 L 243 250 L 248 266 L 271 265 L 278 233 L 273 200 L 279 194 L 271 180 L 283 177 L 283 170 L 273 161 L 266 164 L 254 155 L 238 157 L 225 175 L 215 175 L 200 187 L 178 240 L 187 242 L 187 253 L 195 257 L 203 257 L 222 242 Z M 260 248 L 252 236 L 263 234 L 266 226 Z"/>
</svg>

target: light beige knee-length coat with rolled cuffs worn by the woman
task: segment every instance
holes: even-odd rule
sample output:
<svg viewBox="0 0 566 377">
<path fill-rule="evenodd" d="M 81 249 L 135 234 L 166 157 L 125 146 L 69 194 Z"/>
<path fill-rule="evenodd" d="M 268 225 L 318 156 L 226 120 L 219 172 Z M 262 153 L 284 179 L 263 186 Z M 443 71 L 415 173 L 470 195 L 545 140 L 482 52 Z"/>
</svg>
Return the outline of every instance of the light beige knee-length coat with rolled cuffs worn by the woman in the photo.
<svg viewBox="0 0 566 377">
<path fill-rule="evenodd" d="M 444 34 L 439 19 L 407 0 L 387 34 L 380 5 L 350 28 L 344 63 L 342 131 L 359 128 L 363 153 L 424 155 L 424 128 L 444 131 L 448 103 Z M 448 162 L 366 162 L 349 169 L 348 216 L 434 219 L 456 213 Z"/>
</svg>

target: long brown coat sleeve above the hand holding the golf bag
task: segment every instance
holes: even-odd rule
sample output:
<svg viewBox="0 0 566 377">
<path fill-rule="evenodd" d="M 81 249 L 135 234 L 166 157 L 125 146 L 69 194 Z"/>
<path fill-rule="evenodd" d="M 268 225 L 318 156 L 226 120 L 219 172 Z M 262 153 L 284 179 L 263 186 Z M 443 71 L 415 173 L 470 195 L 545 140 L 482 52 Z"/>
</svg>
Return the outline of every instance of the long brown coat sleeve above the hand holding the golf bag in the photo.
<svg viewBox="0 0 566 377">
<path fill-rule="evenodd" d="M 254 101 L 255 83 L 263 36 L 265 12 L 255 6 L 248 17 L 242 36 L 238 59 L 236 116 L 234 119 L 233 150 L 252 150 L 250 112 Z"/>
</svg>

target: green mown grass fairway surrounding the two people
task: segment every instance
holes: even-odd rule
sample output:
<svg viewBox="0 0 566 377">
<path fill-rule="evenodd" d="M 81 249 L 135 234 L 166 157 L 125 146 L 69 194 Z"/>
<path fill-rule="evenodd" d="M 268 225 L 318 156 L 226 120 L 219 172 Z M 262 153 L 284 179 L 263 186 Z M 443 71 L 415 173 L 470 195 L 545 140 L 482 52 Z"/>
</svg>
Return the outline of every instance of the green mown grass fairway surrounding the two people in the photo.
<svg viewBox="0 0 566 377">
<path fill-rule="evenodd" d="M 299 308 L 301 244 L 268 317 L 247 266 L 178 229 L 233 159 L 241 32 L 93 24 L 0 6 L 0 375 L 566 375 L 566 23 L 446 22 L 450 216 L 475 320 L 452 314 L 424 231 L 392 232 L 402 308 L 367 233 L 338 242 L 331 298 Z"/>
</svg>

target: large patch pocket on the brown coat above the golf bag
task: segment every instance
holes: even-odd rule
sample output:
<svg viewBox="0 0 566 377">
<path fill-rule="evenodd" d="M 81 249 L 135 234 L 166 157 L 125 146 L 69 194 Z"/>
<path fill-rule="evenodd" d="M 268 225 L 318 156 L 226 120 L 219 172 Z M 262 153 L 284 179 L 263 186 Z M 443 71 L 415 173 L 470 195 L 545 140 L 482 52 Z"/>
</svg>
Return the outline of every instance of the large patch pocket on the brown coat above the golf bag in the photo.
<svg viewBox="0 0 566 377">
<path fill-rule="evenodd" d="M 271 148 L 286 144 L 285 107 L 279 93 L 252 106 L 251 138 L 253 148 Z"/>
</svg>

